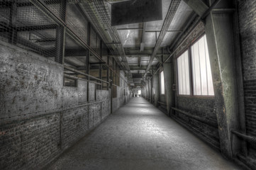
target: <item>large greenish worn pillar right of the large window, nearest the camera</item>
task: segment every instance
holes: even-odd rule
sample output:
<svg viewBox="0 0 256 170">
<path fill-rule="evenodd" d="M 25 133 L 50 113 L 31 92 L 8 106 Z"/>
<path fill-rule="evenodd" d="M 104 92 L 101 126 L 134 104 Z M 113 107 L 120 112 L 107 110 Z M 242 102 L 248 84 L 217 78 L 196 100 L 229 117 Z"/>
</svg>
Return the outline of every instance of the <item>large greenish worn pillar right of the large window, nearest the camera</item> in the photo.
<svg viewBox="0 0 256 170">
<path fill-rule="evenodd" d="M 218 8 L 229 8 L 228 2 L 224 1 Z M 206 17 L 205 28 L 221 152 L 229 158 L 232 158 L 233 152 L 236 152 L 240 145 L 237 139 L 233 139 L 233 144 L 230 140 L 230 130 L 239 128 L 232 22 L 232 13 L 210 13 Z"/>
</svg>

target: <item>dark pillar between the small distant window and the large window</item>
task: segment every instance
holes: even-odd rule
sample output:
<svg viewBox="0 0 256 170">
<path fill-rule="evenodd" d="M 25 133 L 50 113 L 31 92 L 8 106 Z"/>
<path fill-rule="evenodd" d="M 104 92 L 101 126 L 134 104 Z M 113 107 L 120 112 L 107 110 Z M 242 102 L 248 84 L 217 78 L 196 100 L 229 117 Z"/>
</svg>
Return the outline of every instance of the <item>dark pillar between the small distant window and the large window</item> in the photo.
<svg viewBox="0 0 256 170">
<path fill-rule="evenodd" d="M 173 91 L 172 91 L 172 63 L 164 63 L 164 76 L 165 76 L 165 97 L 167 103 L 167 113 L 170 115 L 171 107 L 173 106 Z"/>
</svg>

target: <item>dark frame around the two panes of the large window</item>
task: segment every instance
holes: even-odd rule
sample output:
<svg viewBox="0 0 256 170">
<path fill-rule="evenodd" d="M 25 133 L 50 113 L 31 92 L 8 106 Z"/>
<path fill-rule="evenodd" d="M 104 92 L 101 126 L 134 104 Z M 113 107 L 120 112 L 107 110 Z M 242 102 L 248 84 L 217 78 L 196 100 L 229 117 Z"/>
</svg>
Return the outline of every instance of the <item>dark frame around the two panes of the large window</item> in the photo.
<svg viewBox="0 0 256 170">
<path fill-rule="evenodd" d="M 193 40 L 189 45 L 187 45 L 187 47 L 182 50 L 182 52 L 179 53 L 179 55 L 177 55 L 177 57 L 175 57 L 175 64 L 176 64 L 176 84 L 177 84 L 177 96 L 182 96 L 182 97 L 191 97 L 191 98 L 215 98 L 215 93 L 213 95 L 195 95 L 194 94 L 194 84 L 193 84 L 193 68 L 192 68 L 192 56 L 191 56 L 191 47 L 196 44 L 196 42 L 198 42 L 201 38 L 204 37 L 204 35 L 206 35 L 206 33 L 201 34 L 198 38 L 196 38 L 195 40 Z M 207 45 L 208 47 L 208 45 Z M 179 81 L 178 81 L 178 62 L 177 59 L 179 57 L 182 56 L 182 54 L 184 52 L 186 52 L 188 50 L 188 55 L 189 55 L 189 84 L 190 84 L 190 94 L 179 94 Z M 212 70 L 211 70 L 212 71 Z M 213 86 L 213 91 L 214 91 L 214 86 Z"/>
</svg>

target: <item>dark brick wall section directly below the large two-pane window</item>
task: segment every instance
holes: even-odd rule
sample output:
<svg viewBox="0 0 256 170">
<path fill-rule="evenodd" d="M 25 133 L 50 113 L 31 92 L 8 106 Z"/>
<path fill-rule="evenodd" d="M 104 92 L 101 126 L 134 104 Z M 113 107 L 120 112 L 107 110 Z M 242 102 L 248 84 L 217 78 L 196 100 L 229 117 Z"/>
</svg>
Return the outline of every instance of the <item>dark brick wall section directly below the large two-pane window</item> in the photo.
<svg viewBox="0 0 256 170">
<path fill-rule="evenodd" d="M 200 118 L 206 118 L 217 124 L 216 105 L 214 98 L 199 98 L 191 96 L 179 96 L 177 98 L 177 108 L 182 111 L 187 111 L 192 115 L 197 115 Z M 202 123 L 194 118 L 177 112 L 177 118 L 189 126 L 191 130 L 196 132 L 203 140 L 211 144 L 216 149 L 220 148 L 218 128 Z"/>
</svg>

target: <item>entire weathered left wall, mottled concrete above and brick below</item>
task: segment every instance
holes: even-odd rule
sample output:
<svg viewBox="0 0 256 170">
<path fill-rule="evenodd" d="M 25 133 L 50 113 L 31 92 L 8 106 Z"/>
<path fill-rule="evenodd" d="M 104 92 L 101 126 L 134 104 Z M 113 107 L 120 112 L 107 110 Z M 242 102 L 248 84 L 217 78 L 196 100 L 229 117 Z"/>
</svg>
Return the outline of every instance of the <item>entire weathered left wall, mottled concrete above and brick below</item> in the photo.
<svg viewBox="0 0 256 170">
<path fill-rule="evenodd" d="M 63 67 L 0 42 L 0 169 L 40 169 L 110 114 L 108 91 L 78 79 L 63 86 Z"/>
</svg>

